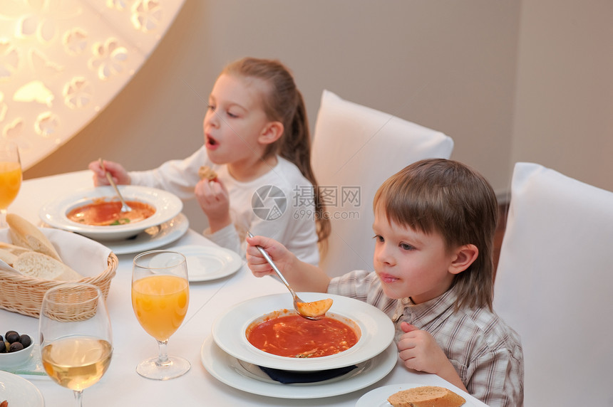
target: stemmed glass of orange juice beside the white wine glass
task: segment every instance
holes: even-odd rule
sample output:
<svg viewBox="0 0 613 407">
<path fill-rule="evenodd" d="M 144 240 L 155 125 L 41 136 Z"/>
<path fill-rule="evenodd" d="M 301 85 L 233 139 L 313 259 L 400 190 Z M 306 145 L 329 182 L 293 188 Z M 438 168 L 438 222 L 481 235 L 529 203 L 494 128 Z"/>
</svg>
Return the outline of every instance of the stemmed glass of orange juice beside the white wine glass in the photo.
<svg viewBox="0 0 613 407">
<path fill-rule="evenodd" d="M 190 302 L 187 260 L 181 253 L 151 250 L 134 258 L 132 308 L 145 331 L 158 341 L 158 356 L 136 366 L 140 376 L 166 380 L 185 374 L 190 362 L 168 356 L 168 339 L 180 327 Z"/>
</svg>

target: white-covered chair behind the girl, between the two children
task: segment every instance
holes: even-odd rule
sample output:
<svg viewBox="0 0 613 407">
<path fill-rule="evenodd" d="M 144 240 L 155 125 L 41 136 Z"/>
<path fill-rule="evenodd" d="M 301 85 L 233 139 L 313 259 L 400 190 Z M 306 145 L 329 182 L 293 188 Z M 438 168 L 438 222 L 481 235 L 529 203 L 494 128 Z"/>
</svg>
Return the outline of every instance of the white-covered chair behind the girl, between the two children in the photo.
<svg viewBox="0 0 613 407">
<path fill-rule="evenodd" d="M 311 157 L 331 221 L 321 268 L 331 276 L 372 270 L 376 190 L 408 164 L 449 158 L 452 149 L 453 140 L 441 132 L 324 90 Z"/>
</svg>

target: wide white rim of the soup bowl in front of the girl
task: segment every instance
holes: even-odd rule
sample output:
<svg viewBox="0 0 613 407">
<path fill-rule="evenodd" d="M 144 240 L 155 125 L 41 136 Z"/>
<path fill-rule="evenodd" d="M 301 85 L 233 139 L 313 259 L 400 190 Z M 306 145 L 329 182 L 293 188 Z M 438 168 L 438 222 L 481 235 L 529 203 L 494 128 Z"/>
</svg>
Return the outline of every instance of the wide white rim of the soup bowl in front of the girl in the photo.
<svg viewBox="0 0 613 407">
<path fill-rule="evenodd" d="M 43 222 L 54 228 L 76 232 L 93 240 L 119 240 L 136 236 L 151 226 L 168 222 L 177 216 L 183 208 L 182 201 L 168 191 L 138 185 L 119 185 L 118 188 L 126 201 L 149 203 L 155 207 L 155 213 L 143 221 L 115 226 L 83 225 L 68 219 L 66 213 L 71 209 L 91 203 L 94 199 L 105 199 L 105 201 L 117 199 L 113 187 L 98 186 L 80 189 L 55 201 L 48 202 L 38 211 L 38 216 Z"/>
</svg>

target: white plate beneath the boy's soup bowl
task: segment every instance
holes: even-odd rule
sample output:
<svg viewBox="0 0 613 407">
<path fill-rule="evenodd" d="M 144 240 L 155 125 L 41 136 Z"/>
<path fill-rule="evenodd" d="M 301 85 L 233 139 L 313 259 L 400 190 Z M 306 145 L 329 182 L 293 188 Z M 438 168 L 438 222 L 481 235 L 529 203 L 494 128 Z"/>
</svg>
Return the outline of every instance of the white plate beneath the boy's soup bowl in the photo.
<svg viewBox="0 0 613 407">
<path fill-rule="evenodd" d="M 200 360 L 215 379 L 248 393 L 279 398 L 321 398 L 351 393 L 383 379 L 396 366 L 398 351 L 395 344 L 390 344 L 386 350 L 358 364 L 358 368 L 348 374 L 302 384 L 282 384 L 270 379 L 263 372 L 257 372 L 257 366 L 225 353 L 215 344 L 212 336 L 202 343 Z"/>
</svg>

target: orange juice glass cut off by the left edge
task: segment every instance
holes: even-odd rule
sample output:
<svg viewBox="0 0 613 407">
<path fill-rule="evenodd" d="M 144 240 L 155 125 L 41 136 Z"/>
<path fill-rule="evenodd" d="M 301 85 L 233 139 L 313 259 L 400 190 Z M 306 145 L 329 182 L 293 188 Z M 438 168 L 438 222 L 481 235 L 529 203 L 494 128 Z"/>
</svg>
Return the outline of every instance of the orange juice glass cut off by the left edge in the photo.
<svg viewBox="0 0 613 407">
<path fill-rule="evenodd" d="M 17 144 L 0 141 L 0 228 L 6 228 L 6 210 L 20 187 L 21 162 Z"/>
</svg>

